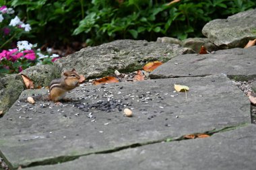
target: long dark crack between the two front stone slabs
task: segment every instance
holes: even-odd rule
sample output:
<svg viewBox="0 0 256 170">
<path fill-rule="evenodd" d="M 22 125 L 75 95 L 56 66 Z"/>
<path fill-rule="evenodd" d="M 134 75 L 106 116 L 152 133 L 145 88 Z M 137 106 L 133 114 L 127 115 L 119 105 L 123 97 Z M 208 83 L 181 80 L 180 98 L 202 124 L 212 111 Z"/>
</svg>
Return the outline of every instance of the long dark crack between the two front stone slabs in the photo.
<svg viewBox="0 0 256 170">
<path fill-rule="evenodd" d="M 207 132 L 197 132 L 194 134 L 208 134 L 209 136 L 212 136 L 213 134 L 217 134 L 217 133 L 221 133 L 221 132 L 227 132 L 230 130 L 235 130 L 236 128 L 241 128 L 243 126 L 247 126 L 248 123 L 243 123 L 243 124 L 238 124 L 236 126 L 226 126 L 224 128 L 221 128 L 219 130 L 213 129 L 213 130 L 209 130 Z M 55 165 L 57 163 L 65 163 L 68 161 L 73 161 L 75 159 L 79 159 L 79 157 L 84 157 L 84 156 L 88 156 L 88 155 L 98 155 L 98 154 L 108 154 L 108 153 L 116 153 L 118 151 L 123 151 L 125 149 L 128 148 L 137 148 L 140 146 L 147 146 L 150 144 L 156 144 L 156 143 L 161 143 L 161 142 L 175 142 L 175 141 L 182 141 L 182 140 L 193 140 L 194 138 L 185 138 L 187 134 L 182 135 L 180 137 L 174 137 L 174 138 L 170 138 L 170 137 L 166 137 L 166 138 L 162 138 L 160 140 L 153 140 L 153 141 L 149 141 L 149 142 L 137 142 L 137 143 L 133 143 L 133 144 L 129 144 L 127 146 L 119 146 L 117 148 L 113 148 L 110 150 L 106 150 L 106 151 L 98 151 L 98 152 L 94 152 L 94 153 L 87 153 L 84 155 L 76 155 L 76 156 L 60 156 L 60 157 L 55 157 L 55 158 L 51 158 L 51 159 L 45 159 L 44 161 L 36 161 L 34 163 L 30 163 L 29 165 L 21 165 L 22 168 L 26 168 L 26 167 L 36 167 L 39 165 Z"/>
</svg>

